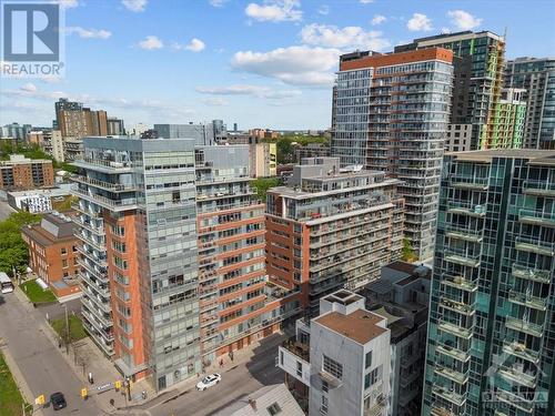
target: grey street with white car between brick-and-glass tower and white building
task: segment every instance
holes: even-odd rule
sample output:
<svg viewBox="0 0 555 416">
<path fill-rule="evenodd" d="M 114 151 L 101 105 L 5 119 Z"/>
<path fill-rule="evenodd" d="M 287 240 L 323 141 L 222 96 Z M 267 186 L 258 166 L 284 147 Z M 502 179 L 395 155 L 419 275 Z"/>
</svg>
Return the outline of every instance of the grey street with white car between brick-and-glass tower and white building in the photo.
<svg viewBox="0 0 555 416">
<path fill-rule="evenodd" d="M 249 400 L 249 395 L 265 385 L 283 383 L 283 372 L 275 367 L 278 347 L 264 351 L 250 363 L 223 368 L 222 381 L 199 392 L 194 387 L 181 396 L 148 408 L 152 416 L 208 416 L 236 400 Z"/>
</svg>

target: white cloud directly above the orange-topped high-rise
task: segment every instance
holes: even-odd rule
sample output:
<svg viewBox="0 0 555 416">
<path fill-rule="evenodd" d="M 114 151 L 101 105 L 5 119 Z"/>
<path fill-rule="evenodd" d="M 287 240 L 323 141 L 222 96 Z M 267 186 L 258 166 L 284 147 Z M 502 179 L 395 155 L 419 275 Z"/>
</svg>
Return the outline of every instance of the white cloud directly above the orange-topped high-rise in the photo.
<svg viewBox="0 0 555 416">
<path fill-rule="evenodd" d="M 381 50 L 390 45 L 382 32 L 365 31 L 363 28 L 351 26 L 340 29 L 327 24 L 309 24 L 301 31 L 303 43 L 326 48 L 361 48 Z"/>
</svg>

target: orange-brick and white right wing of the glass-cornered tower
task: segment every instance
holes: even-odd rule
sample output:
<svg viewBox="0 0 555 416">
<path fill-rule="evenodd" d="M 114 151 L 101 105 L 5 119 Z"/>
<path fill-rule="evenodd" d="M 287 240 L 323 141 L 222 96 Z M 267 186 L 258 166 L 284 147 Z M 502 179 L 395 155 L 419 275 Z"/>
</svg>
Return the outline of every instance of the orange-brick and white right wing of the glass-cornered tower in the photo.
<svg viewBox="0 0 555 416">
<path fill-rule="evenodd" d="M 264 204 L 250 187 L 249 146 L 199 146 L 196 221 L 203 364 L 266 336 L 300 312 L 297 291 L 268 283 Z"/>
</svg>

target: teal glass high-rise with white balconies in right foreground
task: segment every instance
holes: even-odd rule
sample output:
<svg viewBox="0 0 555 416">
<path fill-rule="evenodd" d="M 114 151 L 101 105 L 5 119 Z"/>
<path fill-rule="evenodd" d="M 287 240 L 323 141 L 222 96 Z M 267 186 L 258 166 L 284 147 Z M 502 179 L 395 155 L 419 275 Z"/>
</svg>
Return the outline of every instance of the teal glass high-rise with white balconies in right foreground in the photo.
<svg viewBox="0 0 555 416">
<path fill-rule="evenodd" d="M 445 155 L 424 415 L 555 412 L 555 151 Z"/>
</svg>

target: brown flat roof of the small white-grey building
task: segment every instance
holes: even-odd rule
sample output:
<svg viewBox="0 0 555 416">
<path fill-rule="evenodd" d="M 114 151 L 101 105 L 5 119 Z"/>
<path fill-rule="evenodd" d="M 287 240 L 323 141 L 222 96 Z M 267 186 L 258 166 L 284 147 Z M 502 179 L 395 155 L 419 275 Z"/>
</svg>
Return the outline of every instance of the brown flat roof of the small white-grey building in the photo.
<svg viewBox="0 0 555 416">
<path fill-rule="evenodd" d="M 314 319 L 320 325 L 362 345 L 387 332 L 377 325 L 382 321 L 384 321 L 382 316 L 364 310 L 357 310 L 349 315 L 330 312 Z"/>
</svg>

